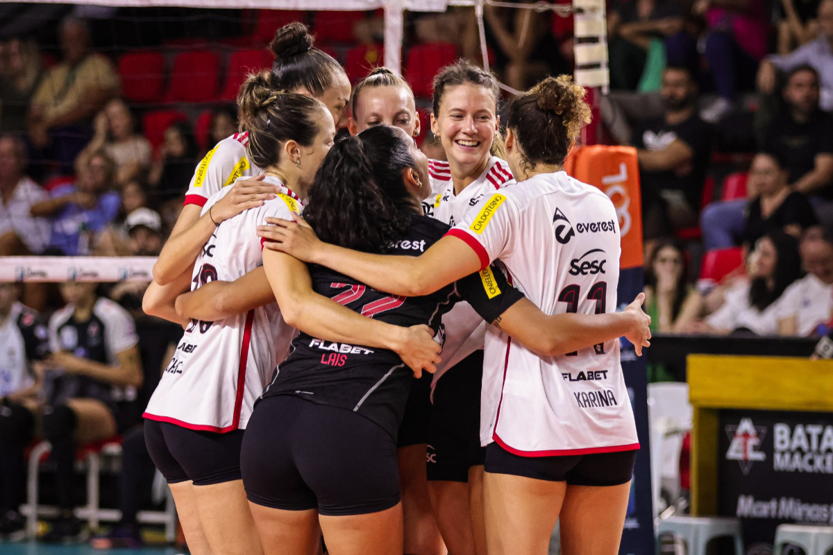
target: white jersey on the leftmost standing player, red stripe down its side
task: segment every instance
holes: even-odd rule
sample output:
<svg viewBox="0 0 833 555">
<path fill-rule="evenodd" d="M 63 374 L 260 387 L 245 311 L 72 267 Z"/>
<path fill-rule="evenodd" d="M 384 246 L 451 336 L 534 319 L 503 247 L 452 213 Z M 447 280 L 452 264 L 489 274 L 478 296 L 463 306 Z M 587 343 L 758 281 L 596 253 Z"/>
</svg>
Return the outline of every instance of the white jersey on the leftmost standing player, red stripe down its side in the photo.
<svg viewBox="0 0 833 555">
<path fill-rule="evenodd" d="M 278 187 L 277 197 L 217 227 L 197 257 L 192 290 L 213 280 L 237 280 L 262 265 L 257 225 L 268 217 L 291 220 L 292 212 L 302 210 L 300 199 L 281 181 L 272 176 L 264 181 Z M 202 212 L 228 191 L 212 196 Z M 219 433 L 246 428 L 255 400 L 275 364 L 287 356 L 294 334 L 275 303 L 217 322 L 192 321 L 147 404 L 145 418 Z"/>
</svg>

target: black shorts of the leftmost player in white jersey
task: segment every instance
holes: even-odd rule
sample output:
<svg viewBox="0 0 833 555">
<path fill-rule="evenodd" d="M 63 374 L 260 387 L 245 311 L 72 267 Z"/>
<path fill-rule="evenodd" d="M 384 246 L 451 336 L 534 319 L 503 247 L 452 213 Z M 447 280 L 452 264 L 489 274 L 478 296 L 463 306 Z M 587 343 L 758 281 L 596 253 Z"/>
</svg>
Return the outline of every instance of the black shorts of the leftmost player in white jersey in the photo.
<svg viewBox="0 0 833 555">
<path fill-rule="evenodd" d="M 145 420 L 147 453 L 167 483 L 192 480 L 195 486 L 207 486 L 239 480 L 243 432 L 217 434 Z"/>
</svg>

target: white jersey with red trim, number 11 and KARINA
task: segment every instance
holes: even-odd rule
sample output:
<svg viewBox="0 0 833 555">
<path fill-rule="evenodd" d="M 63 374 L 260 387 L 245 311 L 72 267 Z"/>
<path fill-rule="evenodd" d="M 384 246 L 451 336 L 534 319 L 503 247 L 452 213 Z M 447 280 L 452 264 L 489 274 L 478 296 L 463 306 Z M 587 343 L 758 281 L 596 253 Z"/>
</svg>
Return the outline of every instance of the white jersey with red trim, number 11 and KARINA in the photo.
<svg viewBox="0 0 833 555">
<path fill-rule="evenodd" d="M 546 314 L 616 310 L 621 254 L 613 203 L 596 187 L 554 174 L 481 199 L 448 235 L 486 267 L 501 259 L 511 283 Z M 541 358 L 486 329 L 481 443 L 522 456 L 639 447 L 619 341 Z"/>
</svg>

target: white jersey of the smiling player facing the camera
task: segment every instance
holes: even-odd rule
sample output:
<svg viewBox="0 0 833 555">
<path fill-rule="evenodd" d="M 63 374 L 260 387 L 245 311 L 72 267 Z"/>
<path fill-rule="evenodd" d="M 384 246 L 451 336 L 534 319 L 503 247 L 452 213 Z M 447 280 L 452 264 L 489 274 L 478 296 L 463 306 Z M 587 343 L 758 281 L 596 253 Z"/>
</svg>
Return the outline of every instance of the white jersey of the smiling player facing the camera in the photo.
<svg viewBox="0 0 833 555">
<path fill-rule="evenodd" d="M 466 212 L 483 196 L 515 182 L 509 165 L 497 156 L 491 156 L 486 169 L 459 195 L 454 192 L 448 162 L 429 160 L 428 179 L 431 181 L 431 196 L 422 201 L 422 211 L 426 216 L 452 227 L 461 221 Z M 442 325 L 445 328 L 442 360 L 437 364 L 434 378 L 431 380 L 432 386 L 436 385 L 436 381 L 448 369 L 477 349 L 482 349 L 486 337 L 486 322 L 466 302 L 457 303 L 450 312 L 443 315 Z"/>
</svg>

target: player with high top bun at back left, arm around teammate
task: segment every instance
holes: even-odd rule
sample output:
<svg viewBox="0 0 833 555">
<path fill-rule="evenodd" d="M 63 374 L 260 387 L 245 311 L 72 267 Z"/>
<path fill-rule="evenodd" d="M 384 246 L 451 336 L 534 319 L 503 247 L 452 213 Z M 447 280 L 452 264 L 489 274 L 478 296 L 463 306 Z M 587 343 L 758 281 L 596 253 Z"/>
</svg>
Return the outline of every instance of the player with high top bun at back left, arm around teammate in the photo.
<svg viewBox="0 0 833 555">
<path fill-rule="evenodd" d="M 337 127 L 345 126 L 350 98 L 347 73 L 336 60 L 312 44 L 307 26 L 300 22 L 289 23 L 277 30 L 269 45 L 275 54 L 272 73 L 277 78 L 276 87 L 316 98 L 325 104 Z M 182 213 L 153 267 L 153 283 L 142 302 L 147 314 L 181 321 L 172 309 L 173 301 L 188 290 L 194 260 L 214 230 L 214 223 L 207 214 L 201 215 L 208 197 L 235 183 L 233 191 L 212 211 L 214 221 L 218 223 L 274 198 L 275 187 L 272 185 L 252 179 L 235 181 L 238 177 L 263 173 L 247 157 L 248 141 L 248 130 L 242 125 L 241 132 L 217 143 L 197 166 Z"/>
</svg>

